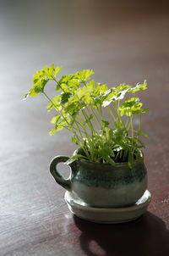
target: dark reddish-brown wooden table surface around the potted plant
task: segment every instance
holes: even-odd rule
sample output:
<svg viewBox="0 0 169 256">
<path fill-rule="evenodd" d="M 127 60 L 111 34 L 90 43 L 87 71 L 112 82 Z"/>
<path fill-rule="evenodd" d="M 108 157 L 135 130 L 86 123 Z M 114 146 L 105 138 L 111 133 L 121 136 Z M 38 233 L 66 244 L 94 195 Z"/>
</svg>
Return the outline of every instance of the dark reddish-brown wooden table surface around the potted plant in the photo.
<svg viewBox="0 0 169 256">
<path fill-rule="evenodd" d="M 168 255 L 169 5 L 166 1 L 1 1 L 0 255 Z M 43 97 L 22 101 L 35 70 L 95 70 L 108 85 L 146 79 L 141 93 L 152 202 L 139 220 L 99 225 L 79 220 L 49 174 L 70 135 L 48 136 Z M 61 166 L 61 173 L 68 170 Z"/>
</svg>

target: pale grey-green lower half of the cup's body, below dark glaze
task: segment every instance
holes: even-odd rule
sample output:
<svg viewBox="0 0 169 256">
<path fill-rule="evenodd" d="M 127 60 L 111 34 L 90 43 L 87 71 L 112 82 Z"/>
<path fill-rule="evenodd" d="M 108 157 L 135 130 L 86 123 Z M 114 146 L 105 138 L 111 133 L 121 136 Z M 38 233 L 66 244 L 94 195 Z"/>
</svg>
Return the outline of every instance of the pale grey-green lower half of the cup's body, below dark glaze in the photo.
<svg viewBox="0 0 169 256">
<path fill-rule="evenodd" d="M 87 186 L 74 181 L 72 190 L 85 203 L 94 207 L 123 207 L 136 203 L 147 188 L 147 175 L 141 181 L 118 184 L 113 188 Z"/>
</svg>

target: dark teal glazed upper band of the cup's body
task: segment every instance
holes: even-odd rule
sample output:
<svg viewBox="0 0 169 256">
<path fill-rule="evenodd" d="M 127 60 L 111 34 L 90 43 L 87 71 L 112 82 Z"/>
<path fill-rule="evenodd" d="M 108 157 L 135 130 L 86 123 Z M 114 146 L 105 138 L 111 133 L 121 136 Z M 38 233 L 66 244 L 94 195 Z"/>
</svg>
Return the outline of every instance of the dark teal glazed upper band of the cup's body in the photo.
<svg viewBox="0 0 169 256">
<path fill-rule="evenodd" d="M 146 175 L 143 162 L 135 163 L 133 169 L 128 164 L 89 163 L 87 161 L 76 161 L 72 181 L 77 181 L 86 186 L 104 187 L 106 189 L 125 186 L 130 183 L 140 182 Z"/>
</svg>

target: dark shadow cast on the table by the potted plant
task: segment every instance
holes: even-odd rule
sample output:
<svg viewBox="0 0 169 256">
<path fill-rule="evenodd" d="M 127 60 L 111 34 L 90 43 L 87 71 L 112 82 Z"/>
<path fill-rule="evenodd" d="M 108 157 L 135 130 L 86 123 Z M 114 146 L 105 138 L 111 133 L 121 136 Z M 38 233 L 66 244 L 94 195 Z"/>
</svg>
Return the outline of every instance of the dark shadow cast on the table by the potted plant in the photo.
<svg viewBox="0 0 169 256">
<path fill-rule="evenodd" d="M 79 242 L 88 256 L 166 256 L 169 231 L 165 223 L 147 212 L 139 220 L 116 225 L 95 224 L 74 216 L 82 231 Z"/>
</svg>

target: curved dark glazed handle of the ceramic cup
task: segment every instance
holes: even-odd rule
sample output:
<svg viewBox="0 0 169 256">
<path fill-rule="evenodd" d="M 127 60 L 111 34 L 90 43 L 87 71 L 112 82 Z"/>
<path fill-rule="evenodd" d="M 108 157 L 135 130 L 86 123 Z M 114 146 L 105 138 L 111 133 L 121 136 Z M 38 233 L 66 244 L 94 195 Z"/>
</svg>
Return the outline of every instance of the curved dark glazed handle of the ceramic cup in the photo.
<svg viewBox="0 0 169 256">
<path fill-rule="evenodd" d="M 67 156 L 57 156 L 54 159 L 52 159 L 51 164 L 50 164 L 50 172 L 51 172 L 52 176 L 54 177 L 55 181 L 59 185 L 63 186 L 66 190 L 70 191 L 71 190 L 70 179 L 64 179 L 63 176 L 57 172 L 57 164 L 64 163 L 68 159 L 69 158 Z"/>
</svg>

